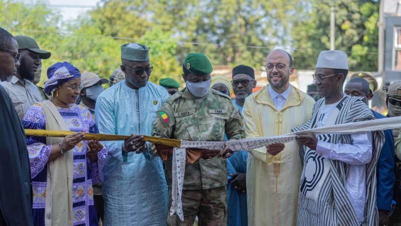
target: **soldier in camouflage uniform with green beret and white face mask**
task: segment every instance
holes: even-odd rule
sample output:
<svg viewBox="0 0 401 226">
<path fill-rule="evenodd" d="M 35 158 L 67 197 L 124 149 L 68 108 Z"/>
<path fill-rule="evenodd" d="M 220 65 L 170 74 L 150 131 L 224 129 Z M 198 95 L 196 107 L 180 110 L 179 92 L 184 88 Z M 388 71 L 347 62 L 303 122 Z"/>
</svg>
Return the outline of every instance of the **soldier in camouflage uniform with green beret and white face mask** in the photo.
<svg viewBox="0 0 401 226">
<path fill-rule="evenodd" d="M 152 136 L 185 141 L 224 141 L 225 134 L 228 139 L 244 138 L 238 108 L 227 95 L 209 89 L 211 72 L 212 65 L 205 55 L 191 53 L 186 56 L 182 75 L 186 88 L 170 96 L 156 112 L 158 118 L 153 124 Z M 161 117 L 160 113 L 167 118 Z M 156 149 L 160 157 L 167 160 L 169 210 L 172 148 L 158 145 Z M 197 157 L 188 155 L 189 152 Z M 196 215 L 199 225 L 227 224 L 227 163 L 226 159 L 216 157 L 218 154 L 218 150 L 187 149 L 181 199 L 184 221 L 181 222 L 176 214 L 170 216 L 167 213 L 168 225 L 192 225 Z"/>
</svg>

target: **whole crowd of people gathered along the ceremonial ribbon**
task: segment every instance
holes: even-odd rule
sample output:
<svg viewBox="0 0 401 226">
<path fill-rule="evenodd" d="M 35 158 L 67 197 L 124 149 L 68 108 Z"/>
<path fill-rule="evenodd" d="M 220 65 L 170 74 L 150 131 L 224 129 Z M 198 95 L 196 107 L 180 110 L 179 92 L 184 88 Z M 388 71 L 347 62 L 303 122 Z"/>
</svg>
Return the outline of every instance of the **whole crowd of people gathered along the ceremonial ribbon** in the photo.
<svg viewBox="0 0 401 226">
<path fill-rule="evenodd" d="M 110 79 L 81 74 L 67 61 L 50 66 L 44 78 L 42 60 L 51 53 L 0 28 L 0 225 L 396 222 L 389 216 L 400 211 L 399 129 L 304 132 L 385 118 L 368 106 L 377 90 L 373 76 L 356 72 L 344 84 L 345 53 L 322 51 L 305 93 L 289 83 L 294 63 L 281 49 L 267 56 L 269 84 L 256 92 L 252 67 L 234 67 L 232 80 L 211 76 L 212 63 L 201 53 L 182 62 L 184 88 L 171 78 L 154 84 L 149 51 L 122 45 L 121 67 Z M 401 116 L 401 82 L 385 91 L 388 117 Z M 73 133 L 37 137 L 24 129 Z M 254 150 L 187 148 L 182 209 L 174 214 L 173 148 L 142 136 L 232 141 L 290 132 L 296 141 Z M 100 142 L 86 133 L 131 136 Z"/>
</svg>

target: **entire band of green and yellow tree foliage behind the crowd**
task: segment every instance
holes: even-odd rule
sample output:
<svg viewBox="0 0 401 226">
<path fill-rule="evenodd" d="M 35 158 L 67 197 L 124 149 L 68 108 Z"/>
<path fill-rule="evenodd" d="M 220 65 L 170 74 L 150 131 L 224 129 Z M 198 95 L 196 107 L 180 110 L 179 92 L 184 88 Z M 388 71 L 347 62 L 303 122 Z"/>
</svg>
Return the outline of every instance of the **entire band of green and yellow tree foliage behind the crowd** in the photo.
<svg viewBox="0 0 401 226">
<path fill-rule="evenodd" d="M 329 48 L 331 2 L 321 0 L 101 0 L 95 9 L 65 22 L 47 2 L 0 0 L 0 26 L 27 35 L 52 52 L 44 70 L 69 61 L 82 72 L 109 77 L 121 64 L 120 46 L 140 42 L 150 49 L 150 80 L 180 74 L 190 52 L 213 65 L 259 68 L 275 47 L 293 49 L 297 69 L 313 69 Z M 333 1 L 336 47 L 349 56 L 351 70 L 377 67 L 378 2 Z M 373 53 L 373 54 L 372 54 Z"/>
</svg>

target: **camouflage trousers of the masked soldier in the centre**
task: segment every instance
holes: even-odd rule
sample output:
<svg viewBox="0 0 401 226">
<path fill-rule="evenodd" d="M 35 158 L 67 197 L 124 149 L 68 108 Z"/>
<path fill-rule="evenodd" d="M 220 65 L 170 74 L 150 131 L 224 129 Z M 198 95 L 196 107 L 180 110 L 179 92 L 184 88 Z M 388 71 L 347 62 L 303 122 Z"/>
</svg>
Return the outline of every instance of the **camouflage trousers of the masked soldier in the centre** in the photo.
<svg viewBox="0 0 401 226">
<path fill-rule="evenodd" d="M 198 225 L 227 225 L 226 186 L 207 190 L 182 190 L 182 211 L 184 221 L 176 214 L 170 216 L 171 188 L 168 188 L 167 225 L 192 226 L 195 217 Z"/>
</svg>

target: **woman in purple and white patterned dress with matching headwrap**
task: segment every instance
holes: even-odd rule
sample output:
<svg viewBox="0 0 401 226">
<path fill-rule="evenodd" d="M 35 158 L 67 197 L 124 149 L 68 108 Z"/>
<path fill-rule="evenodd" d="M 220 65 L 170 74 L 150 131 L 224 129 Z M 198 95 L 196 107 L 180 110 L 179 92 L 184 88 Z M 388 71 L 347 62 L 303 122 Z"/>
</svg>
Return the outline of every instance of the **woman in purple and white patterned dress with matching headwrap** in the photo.
<svg viewBox="0 0 401 226">
<path fill-rule="evenodd" d="M 82 140 L 85 132 L 99 132 L 90 111 L 75 104 L 82 88 L 79 70 L 70 63 L 64 62 L 52 65 L 47 74 L 49 79 L 45 83 L 45 92 L 47 94 L 53 92 L 53 97 L 51 100 L 32 105 L 22 124 L 25 129 L 40 130 L 54 128 L 54 125 L 47 124 L 66 125 L 70 131 L 76 133 L 66 136 L 62 141 L 59 139 L 60 143 L 50 144 L 45 137 L 27 137 L 34 193 L 34 224 L 57 225 L 68 222 L 68 225 L 98 225 L 93 204 L 92 184 L 103 181 L 102 169 L 107 157 L 107 149 L 100 142 Z M 53 109 L 53 111 L 50 111 L 52 113 L 49 114 L 49 110 L 46 109 Z M 54 118 L 52 118 L 53 116 Z M 65 124 L 63 124 L 64 122 L 60 123 L 57 118 L 62 119 Z M 68 154 L 71 156 L 69 162 L 63 160 L 63 158 L 67 159 Z M 56 165 L 56 162 L 53 161 L 68 163 L 66 167 L 73 174 L 73 178 L 70 178 L 72 186 L 61 187 L 62 192 L 59 193 L 55 190 L 49 192 L 50 187 L 55 189 L 59 182 L 68 181 L 68 178 L 53 177 L 56 175 L 56 172 L 52 172 Z M 51 183 L 49 180 L 54 181 L 51 186 L 49 186 Z M 49 193 L 54 197 L 47 197 L 46 194 L 49 196 Z M 67 196 L 63 196 L 64 194 Z M 69 200 L 67 201 L 63 197 L 68 197 Z M 55 208 L 63 203 L 67 203 L 64 204 L 64 207 L 69 213 L 68 216 L 63 216 L 66 215 L 66 212 Z M 63 217 L 65 219 L 61 221 L 60 218 Z"/>
</svg>

